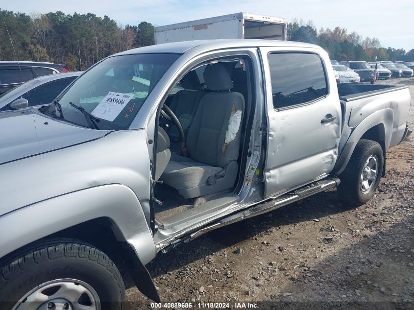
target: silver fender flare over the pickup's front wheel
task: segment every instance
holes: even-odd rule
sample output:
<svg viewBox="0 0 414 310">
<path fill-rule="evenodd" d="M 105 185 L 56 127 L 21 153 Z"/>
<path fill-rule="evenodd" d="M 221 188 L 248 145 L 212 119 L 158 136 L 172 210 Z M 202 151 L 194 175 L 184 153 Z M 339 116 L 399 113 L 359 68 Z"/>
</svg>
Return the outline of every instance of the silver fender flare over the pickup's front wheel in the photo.
<svg viewBox="0 0 414 310">
<path fill-rule="evenodd" d="M 112 221 L 116 237 L 131 244 L 143 264 L 155 257 L 154 239 L 137 196 L 125 185 L 110 184 L 52 197 L 0 216 L 0 258 L 98 217 Z"/>
</svg>

